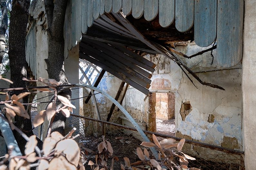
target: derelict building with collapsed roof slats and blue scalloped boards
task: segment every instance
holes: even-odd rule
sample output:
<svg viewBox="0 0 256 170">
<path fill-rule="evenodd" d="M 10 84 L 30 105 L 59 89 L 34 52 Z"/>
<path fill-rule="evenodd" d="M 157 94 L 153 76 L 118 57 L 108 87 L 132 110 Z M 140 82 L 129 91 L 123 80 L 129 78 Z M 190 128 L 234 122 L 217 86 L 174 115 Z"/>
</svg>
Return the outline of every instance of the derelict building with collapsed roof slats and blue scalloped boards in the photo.
<svg viewBox="0 0 256 170">
<path fill-rule="evenodd" d="M 67 79 L 115 98 L 143 130 L 156 132 L 156 117 L 175 118 L 176 137 L 244 151 L 245 167 L 253 169 L 255 5 L 70 0 L 64 26 Z M 29 17 L 27 62 L 35 79 L 47 78 L 43 1 L 32 2 Z M 38 93 L 38 101 L 49 101 L 47 95 Z M 72 98 L 79 98 L 72 101 L 74 115 L 129 122 L 97 91 L 74 88 Z M 38 112 L 45 106 L 38 105 Z"/>
</svg>

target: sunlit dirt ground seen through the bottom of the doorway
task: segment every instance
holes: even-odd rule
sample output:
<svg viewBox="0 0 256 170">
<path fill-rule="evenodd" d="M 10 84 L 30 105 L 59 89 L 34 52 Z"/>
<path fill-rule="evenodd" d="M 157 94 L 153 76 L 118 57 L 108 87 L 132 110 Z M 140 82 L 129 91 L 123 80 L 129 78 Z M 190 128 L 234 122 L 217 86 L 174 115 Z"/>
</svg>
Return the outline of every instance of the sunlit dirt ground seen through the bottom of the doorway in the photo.
<svg viewBox="0 0 256 170">
<path fill-rule="evenodd" d="M 175 136 L 175 118 L 170 120 L 156 119 L 156 132 L 164 135 Z"/>
</svg>

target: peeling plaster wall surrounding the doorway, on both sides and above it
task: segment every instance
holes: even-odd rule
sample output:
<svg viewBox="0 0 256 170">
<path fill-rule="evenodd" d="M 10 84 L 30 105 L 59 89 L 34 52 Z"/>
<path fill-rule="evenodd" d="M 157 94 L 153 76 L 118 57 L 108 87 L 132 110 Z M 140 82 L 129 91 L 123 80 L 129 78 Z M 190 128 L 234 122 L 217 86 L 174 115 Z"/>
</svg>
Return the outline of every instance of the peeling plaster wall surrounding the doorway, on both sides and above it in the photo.
<svg viewBox="0 0 256 170">
<path fill-rule="evenodd" d="M 194 43 L 176 47 L 186 55 L 195 54 L 206 48 L 198 47 Z M 213 50 L 213 56 L 216 56 L 216 53 L 217 51 Z M 154 56 L 144 57 L 151 60 Z M 181 59 L 202 81 L 217 84 L 225 90 L 203 86 L 190 75 L 197 89 L 173 61 L 169 64 L 169 73 L 158 71 L 153 74 L 150 92 L 175 94 L 176 136 L 242 150 L 241 63 L 232 68 L 222 68 L 213 60 L 211 65 L 211 52 L 192 59 Z M 143 94 L 139 93 L 136 89 L 128 89 L 125 106 L 134 118 L 143 120 L 150 111 L 146 112 L 147 100 L 144 101 Z M 191 104 L 184 121 L 180 114 L 182 103 Z M 142 114 L 141 117 L 136 115 L 138 113 Z"/>
</svg>

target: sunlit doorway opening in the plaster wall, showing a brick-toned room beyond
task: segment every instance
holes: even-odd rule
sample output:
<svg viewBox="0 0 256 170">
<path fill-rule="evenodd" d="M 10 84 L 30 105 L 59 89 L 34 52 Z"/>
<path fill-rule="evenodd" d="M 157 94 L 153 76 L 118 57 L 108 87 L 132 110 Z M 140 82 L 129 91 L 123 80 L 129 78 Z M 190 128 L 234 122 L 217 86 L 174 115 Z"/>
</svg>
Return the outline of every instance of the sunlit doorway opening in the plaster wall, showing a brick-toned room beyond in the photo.
<svg viewBox="0 0 256 170">
<path fill-rule="evenodd" d="M 156 132 L 175 136 L 175 94 L 155 93 Z"/>
</svg>

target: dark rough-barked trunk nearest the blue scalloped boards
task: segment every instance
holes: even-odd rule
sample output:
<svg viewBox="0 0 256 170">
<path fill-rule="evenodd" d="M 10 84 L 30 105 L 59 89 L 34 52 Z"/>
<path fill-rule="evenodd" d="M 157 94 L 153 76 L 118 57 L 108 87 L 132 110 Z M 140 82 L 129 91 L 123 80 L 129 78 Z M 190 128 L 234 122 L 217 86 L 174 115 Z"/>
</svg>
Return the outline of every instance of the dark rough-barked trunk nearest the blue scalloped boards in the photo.
<svg viewBox="0 0 256 170">
<path fill-rule="evenodd" d="M 60 84 L 69 84 L 64 70 L 64 19 L 67 0 L 44 0 L 48 23 L 48 58 L 45 59 L 47 72 L 50 79 L 59 81 Z M 59 95 L 71 99 L 71 89 L 64 90 Z M 57 103 L 57 108 L 61 103 Z M 54 118 L 52 132 L 58 131 L 64 134 L 66 117 L 58 113 Z"/>
</svg>

